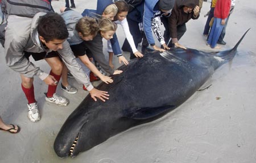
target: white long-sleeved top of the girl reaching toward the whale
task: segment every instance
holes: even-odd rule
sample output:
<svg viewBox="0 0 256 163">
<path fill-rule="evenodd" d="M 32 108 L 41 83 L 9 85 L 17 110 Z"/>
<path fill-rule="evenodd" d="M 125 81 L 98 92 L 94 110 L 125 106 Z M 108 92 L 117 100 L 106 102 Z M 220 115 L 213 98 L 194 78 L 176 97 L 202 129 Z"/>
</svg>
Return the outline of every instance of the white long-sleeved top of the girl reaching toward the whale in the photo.
<svg viewBox="0 0 256 163">
<path fill-rule="evenodd" d="M 134 40 L 133 40 L 133 36 L 131 35 L 131 32 L 130 32 L 130 30 L 129 30 L 129 26 L 128 26 L 127 19 L 126 19 L 126 18 L 123 19 L 122 22 L 119 21 L 119 20 L 116 20 L 114 23 L 115 23 L 115 24 L 121 24 L 121 26 L 122 26 L 122 28 L 123 28 L 123 32 L 125 32 L 125 37 L 126 37 L 127 41 L 129 42 L 133 53 L 137 52 L 138 50 L 137 50 L 137 48 L 135 47 Z M 113 51 L 112 51 L 112 46 L 111 46 L 110 40 L 108 40 L 108 51 L 109 51 L 109 52 L 113 52 Z"/>
</svg>

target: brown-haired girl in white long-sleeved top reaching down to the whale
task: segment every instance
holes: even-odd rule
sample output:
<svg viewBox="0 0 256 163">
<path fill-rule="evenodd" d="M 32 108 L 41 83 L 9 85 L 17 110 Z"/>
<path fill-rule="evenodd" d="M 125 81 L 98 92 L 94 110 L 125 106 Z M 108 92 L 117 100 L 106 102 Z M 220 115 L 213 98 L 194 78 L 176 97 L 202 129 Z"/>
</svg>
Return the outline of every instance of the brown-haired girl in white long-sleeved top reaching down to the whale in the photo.
<svg viewBox="0 0 256 163">
<path fill-rule="evenodd" d="M 116 1 L 115 5 L 117 5 L 117 15 L 115 15 L 114 17 L 114 23 L 115 24 L 121 24 L 122 28 L 123 28 L 123 32 L 125 33 L 126 39 L 128 40 L 131 49 L 134 53 L 134 55 L 136 57 L 143 57 L 142 53 L 138 51 L 138 49 L 135 47 L 134 41 L 133 41 L 133 36 L 130 33 L 130 29 L 129 29 L 129 25 L 126 19 L 126 16 L 128 14 L 129 11 L 129 5 L 123 1 Z M 108 40 L 108 52 L 109 52 L 109 65 L 114 68 L 113 65 L 113 50 L 112 50 L 112 46 L 110 43 L 110 40 Z"/>
</svg>

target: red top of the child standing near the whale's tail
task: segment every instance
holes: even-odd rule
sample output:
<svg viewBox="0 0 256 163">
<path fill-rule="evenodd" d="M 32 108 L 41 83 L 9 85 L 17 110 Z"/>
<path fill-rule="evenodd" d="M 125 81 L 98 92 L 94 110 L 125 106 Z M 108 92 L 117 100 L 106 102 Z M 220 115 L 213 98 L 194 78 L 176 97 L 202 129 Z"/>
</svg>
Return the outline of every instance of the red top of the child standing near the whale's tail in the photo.
<svg viewBox="0 0 256 163">
<path fill-rule="evenodd" d="M 226 19 L 229 15 L 231 0 L 218 0 L 214 9 L 214 17 Z"/>
</svg>

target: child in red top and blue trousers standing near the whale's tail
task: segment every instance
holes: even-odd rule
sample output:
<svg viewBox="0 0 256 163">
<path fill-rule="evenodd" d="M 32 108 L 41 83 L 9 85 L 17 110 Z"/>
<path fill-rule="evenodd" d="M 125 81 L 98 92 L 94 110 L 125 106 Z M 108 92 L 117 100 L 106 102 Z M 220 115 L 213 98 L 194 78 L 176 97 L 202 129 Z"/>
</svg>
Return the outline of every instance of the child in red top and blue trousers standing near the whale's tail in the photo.
<svg viewBox="0 0 256 163">
<path fill-rule="evenodd" d="M 214 21 L 210 30 L 207 45 L 211 48 L 220 49 L 217 45 L 218 37 L 225 25 L 226 18 L 228 18 L 231 0 L 218 0 L 214 9 Z"/>
</svg>

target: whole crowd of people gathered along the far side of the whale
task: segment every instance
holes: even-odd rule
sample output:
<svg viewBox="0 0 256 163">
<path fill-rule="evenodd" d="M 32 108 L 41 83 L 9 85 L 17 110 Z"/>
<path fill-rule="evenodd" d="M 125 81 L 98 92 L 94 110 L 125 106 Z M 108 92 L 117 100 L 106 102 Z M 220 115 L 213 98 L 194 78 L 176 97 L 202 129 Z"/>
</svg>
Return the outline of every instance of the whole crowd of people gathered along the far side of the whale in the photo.
<svg viewBox="0 0 256 163">
<path fill-rule="evenodd" d="M 205 1 L 205 0 L 204 0 Z M 204 36 L 211 48 L 225 45 L 224 36 L 229 16 L 236 0 L 212 0 Z M 51 1 L 49 5 L 51 5 Z M 38 102 L 34 94 L 34 77 L 39 77 L 48 85 L 46 101 L 60 106 L 67 106 L 69 101 L 56 93 L 58 83 L 61 90 L 75 94 L 77 88 L 69 85 L 68 74 L 81 83 L 82 89 L 89 91 L 94 101 L 109 99 L 108 92 L 94 88 L 91 82 L 101 80 L 112 83 L 108 75 L 120 74 L 114 70 L 113 57 L 118 57 L 119 64 L 128 65 L 129 61 L 122 55 L 130 52 L 130 59 L 143 57 L 147 51 L 164 52 L 170 48 L 186 49 L 179 42 L 187 31 L 186 23 L 199 19 L 203 0 L 144 0 L 138 4 L 127 1 L 97 0 L 96 9 L 85 9 L 82 13 L 75 11 L 74 0 L 65 0 L 60 14 L 54 11 L 37 12 L 32 17 L 10 14 L 0 27 L 0 40 L 5 48 L 6 64 L 20 74 L 21 87 L 27 98 L 28 119 L 38 122 L 41 119 Z M 134 3 L 135 3 L 134 2 Z M 1 2 L 2 10 L 8 9 L 6 0 Z M 134 5 L 134 6 L 133 6 Z M 4 12 L 7 13 L 7 12 Z M 26 24 L 20 26 L 19 24 Z M 164 26 L 164 33 L 160 24 Z M 117 24 L 123 28 L 126 40 L 122 48 L 118 42 Z M 16 28 L 16 27 L 20 28 Z M 4 31 L 4 32 L 3 32 Z M 14 35 L 15 34 L 15 35 Z M 154 36 L 160 47 L 155 44 Z M 103 41 L 108 40 L 109 60 L 103 52 Z M 141 51 L 138 50 L 142 43 Z M 149 47 L 150 46 L 150 47 Z M 33 62 L 45 60 L 51 71 L 44 72 Z M 108 75 L 107 75 L 108 74 Z M 62 79 L 62 80 L 61 80 Z M 20 127 L 5 124 L 0 117 L 0 130 L 18 133 Z"/>
</svg>

